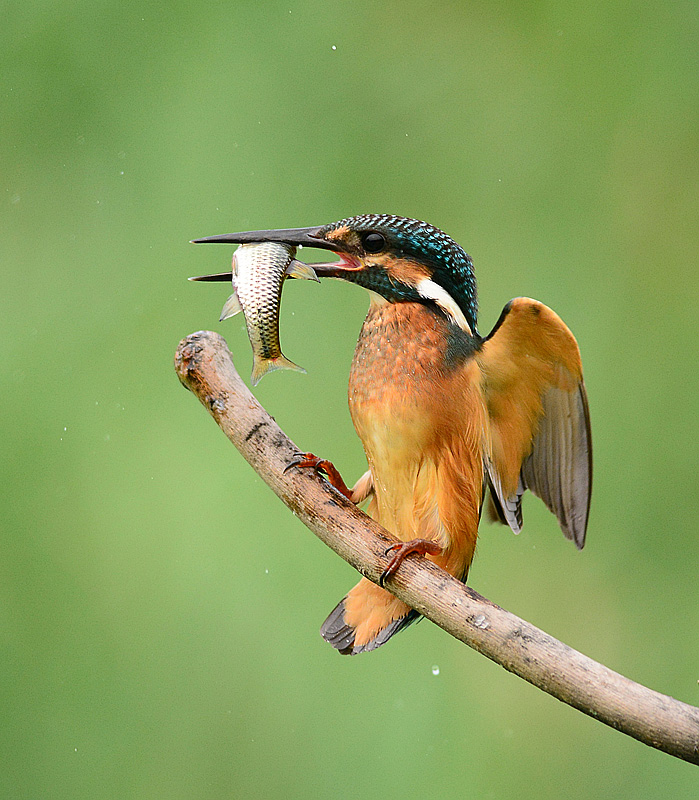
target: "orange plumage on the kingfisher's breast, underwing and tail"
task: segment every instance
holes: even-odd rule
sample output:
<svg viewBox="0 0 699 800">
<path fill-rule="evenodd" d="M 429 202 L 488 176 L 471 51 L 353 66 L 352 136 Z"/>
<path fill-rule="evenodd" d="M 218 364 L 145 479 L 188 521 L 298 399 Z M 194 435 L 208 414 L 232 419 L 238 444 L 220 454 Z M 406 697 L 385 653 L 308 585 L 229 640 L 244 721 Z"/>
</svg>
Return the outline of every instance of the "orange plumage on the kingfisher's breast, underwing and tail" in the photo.
<svg viewBox="0 0 699 800">
<path fill-rule="evenodd" d="M 512 301 L 493 336 L 454 363 L 447 359 L 449 334 L 444 316 L 424 305 L 372 303 L 349 384 L 352 420 L 369 463 L 354 499 L 367 495 L 370 481 L 368 513 L 403 541 L 437 542 L 442 553 L 426 557 L 465 580 L 476 549 L 484 463 L 499 477 L 503 499 L 516 497 L 547 393 L 574 399 L 584 387 L 575 339 L 536 301 Z M 586 415 L 571 420 L 586 435 Z M 589 447 L 582 455 L 588 458 Z M 586 518 L 586 504 L 584 511 Z M 362 652 L 373 649 L 382 631 L 397 632 L 414 617 L 363 578 L 323 635 L 333 640 L 338 628 L 345 637 L 351 631 L 351 645 L 342 649 Z"/>
</svg>

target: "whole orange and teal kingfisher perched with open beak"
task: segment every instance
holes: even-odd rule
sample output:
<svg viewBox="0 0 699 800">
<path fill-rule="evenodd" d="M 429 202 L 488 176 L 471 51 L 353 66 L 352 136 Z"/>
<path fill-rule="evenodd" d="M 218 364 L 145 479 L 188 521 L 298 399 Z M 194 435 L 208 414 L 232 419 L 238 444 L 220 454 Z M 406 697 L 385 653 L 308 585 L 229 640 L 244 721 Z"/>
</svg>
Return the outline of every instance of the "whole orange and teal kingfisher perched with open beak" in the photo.
<svg viewBox="0 0 699 800">
<path fill-rule="evenodd" d="M 398 543 L 380 585 L 366 578 L 321 627 L 340 653 L 375 650 L 420 615 L 383 588 L 418 553 L 466 581 L 481 512 L 522 529 L 529 489 L 578 549 L 585 544 L 592 441 L 578 344 L 561 318 L 517 297 L 485 336 L 470 256 L 416 219 L 363 214 L 329 225 L 245 231 L 195 243 L 280 242 L 330 250 L 318 277 L 369 291 L 349 377 L 349 409 L 368 470 L 349 489 L 334 465 L 299 453 Z M 198 280 L 230 280 L 231 273 Z"/>
</svg>

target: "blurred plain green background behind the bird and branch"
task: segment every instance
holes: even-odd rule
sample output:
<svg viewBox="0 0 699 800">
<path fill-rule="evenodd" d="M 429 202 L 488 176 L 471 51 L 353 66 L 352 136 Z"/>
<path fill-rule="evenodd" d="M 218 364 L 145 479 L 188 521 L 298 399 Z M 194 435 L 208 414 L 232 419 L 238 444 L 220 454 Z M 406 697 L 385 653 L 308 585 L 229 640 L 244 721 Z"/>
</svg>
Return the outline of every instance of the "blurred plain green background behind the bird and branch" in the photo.
<svg viewBox="0 0 699 800">
<path fill-rule="evenodd" d="M 696 2 L 6 3 L 0 512 L 7 798 L 685 798 L 696 767 L 561 705 L 430 623 L 368 656 L 318 635 L 356 575 L 172 369 L 221 331 L 197 236 L 362 212 L 474 258 L 583 353 L 588 546 L 534 498 L 470 582 L 699 704 Z M 308 375 L 256 390 L 364 469 L 346 409 L 366 295 L 292 282 Z M 438 671 L 438 674 L 434 674 Z"/>
</svg>

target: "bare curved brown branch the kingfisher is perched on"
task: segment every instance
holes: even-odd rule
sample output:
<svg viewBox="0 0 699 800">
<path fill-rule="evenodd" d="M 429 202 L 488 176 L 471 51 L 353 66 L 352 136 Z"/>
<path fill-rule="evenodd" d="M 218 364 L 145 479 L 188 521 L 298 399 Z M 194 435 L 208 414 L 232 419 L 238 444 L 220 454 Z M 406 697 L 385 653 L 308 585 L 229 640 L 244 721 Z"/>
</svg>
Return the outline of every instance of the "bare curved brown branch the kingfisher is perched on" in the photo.
<svg viewBox="0 0 699 800">
<path fill-rule="evenodd" d="M 395 540 L 312 471 L 284 467 L 297 448 L 233 366 L 225 340 L 199 331 L 175 355 L 180 381 L 281 500 L 339 556 L 378 582 Z M 445 631 L 543 691 L 677 758 L 699 764 L 699 708 L 654 692 L 481 597 L 424 558 L 410 558 L 389 591 Z"/>
</svg>

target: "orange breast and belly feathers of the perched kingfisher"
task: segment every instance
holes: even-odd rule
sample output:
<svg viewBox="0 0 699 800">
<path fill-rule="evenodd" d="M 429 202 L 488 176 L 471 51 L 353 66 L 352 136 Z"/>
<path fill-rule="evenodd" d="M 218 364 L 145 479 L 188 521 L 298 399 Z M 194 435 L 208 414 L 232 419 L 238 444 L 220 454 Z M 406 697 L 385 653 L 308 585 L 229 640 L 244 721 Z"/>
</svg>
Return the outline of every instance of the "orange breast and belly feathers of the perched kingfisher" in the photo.
<svg viewBox="0 0 699 800">
<path fill-rule="evenodd" d="M 349 382 L 352 420 L 373 476 L 369 512 L 463 577 L 483 495 L 485 402 L 475 343 L 419 303 L 372 304 Z"/>
</svg>

